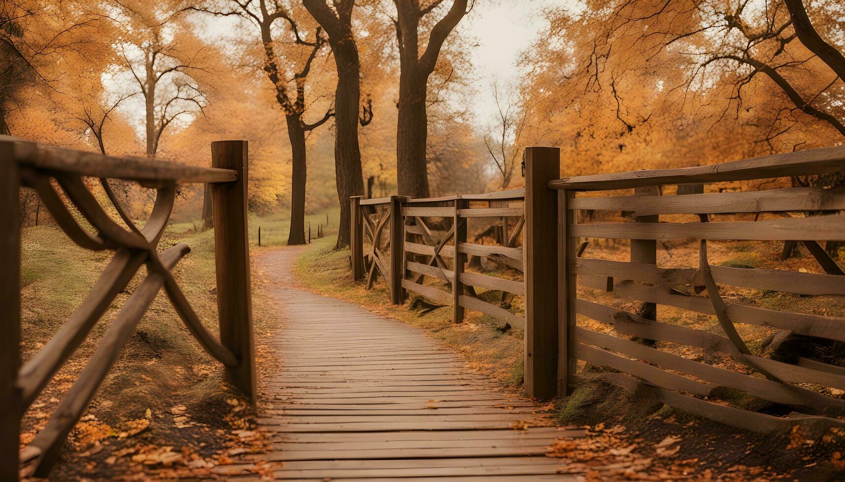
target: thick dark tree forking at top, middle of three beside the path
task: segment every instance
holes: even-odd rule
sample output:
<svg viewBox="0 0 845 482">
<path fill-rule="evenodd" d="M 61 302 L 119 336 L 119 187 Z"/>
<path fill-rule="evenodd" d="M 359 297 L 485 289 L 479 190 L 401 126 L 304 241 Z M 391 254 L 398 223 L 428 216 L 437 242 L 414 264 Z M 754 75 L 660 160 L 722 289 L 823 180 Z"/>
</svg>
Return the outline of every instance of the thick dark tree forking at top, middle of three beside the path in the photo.
<svg viewBox="0 0 845 482">
<path fill-rule="evenodd" d="M 349 198 L 363 194 L 361 148 L 358 122 L 366 126 L 373 120 L 372 102 L 358 117 L 361 103 L 361 62 L 352 31 L 355 0 L 334 0 L 330 8 L 325 0 L 303 0 L 308 12 L 329 35 L 329 44 L 337 68 L 335 89 L 335 179 L 341 203 L 341 226 L 335 248 L 349 246 Z"/>
</svg>

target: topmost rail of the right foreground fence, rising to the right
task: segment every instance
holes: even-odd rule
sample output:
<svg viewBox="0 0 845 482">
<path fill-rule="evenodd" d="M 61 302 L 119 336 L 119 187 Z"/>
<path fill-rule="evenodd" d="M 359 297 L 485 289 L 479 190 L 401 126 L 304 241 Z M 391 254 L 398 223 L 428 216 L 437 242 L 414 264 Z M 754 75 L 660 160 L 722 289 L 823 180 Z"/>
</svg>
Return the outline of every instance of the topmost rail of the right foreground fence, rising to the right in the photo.
<svg viewBox="0 0 845 482">
<path fill-rule="evenodd" d="M 842 171 L 845 146 L 772 154 L 714 165 L 575 176 L 548 183 L 553 189 L 629 189 L 695 182 L 745 181 L 770 177 L 807 176 Z"/>
</svg>

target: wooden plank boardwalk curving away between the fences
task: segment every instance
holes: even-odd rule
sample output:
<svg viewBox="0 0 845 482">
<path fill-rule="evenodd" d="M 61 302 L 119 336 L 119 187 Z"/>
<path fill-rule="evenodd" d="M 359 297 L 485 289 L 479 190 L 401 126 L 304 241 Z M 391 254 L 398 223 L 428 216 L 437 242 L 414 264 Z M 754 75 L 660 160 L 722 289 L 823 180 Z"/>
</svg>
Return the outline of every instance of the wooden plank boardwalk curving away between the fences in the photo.
<svg viewBox="0 0 845 482">
<path fill-rule="evenodd" d="M 283 285 L 296 251 L 263 257 L 283 320 L 259 418 L 276 478 L 575 479 L 545 452 L 583 431 L 549 426 L 417 328 Z"/>
</svg>

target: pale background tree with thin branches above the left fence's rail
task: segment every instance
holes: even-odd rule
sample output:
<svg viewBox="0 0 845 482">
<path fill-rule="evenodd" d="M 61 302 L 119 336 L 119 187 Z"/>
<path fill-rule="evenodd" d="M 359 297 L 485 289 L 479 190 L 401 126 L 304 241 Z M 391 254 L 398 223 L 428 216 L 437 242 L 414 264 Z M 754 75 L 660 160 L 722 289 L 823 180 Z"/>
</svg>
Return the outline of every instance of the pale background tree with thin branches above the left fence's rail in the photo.
<svg viewBox="0 0 845 482">
<path fill-rule="evenodd" d="M 168 12 L 168 7 L 171 11 Z M 118 42 L 123 67 L 144 96 L 146 154 L 154 157 L 161 134 L 180 116 L 201 114 L 208 105 L 192 71 L 204 71 L 204 46 L 178 31 L 178 5 L 117 3 L 128 30 Z M 163 13 L 162 13 L 163 12 Z"/>
</svg>

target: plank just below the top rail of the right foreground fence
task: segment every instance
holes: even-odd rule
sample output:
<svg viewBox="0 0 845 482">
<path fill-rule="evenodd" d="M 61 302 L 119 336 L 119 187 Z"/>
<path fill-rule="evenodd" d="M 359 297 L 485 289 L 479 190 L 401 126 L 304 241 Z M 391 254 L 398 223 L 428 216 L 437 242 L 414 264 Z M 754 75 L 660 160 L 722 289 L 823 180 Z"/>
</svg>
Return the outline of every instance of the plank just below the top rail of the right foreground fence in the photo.
<svg viewBox="0 0 845 482">
<path fill-rule="evenodd" d="M 845 209 L 845 190 L 786 187 L 766 191 L 714 192 L 659 198 L 610 196 L 575 198 L 572 205 L 575 209 L 633 211 L 635 216 L 819 211 Z"/>
</svg>

